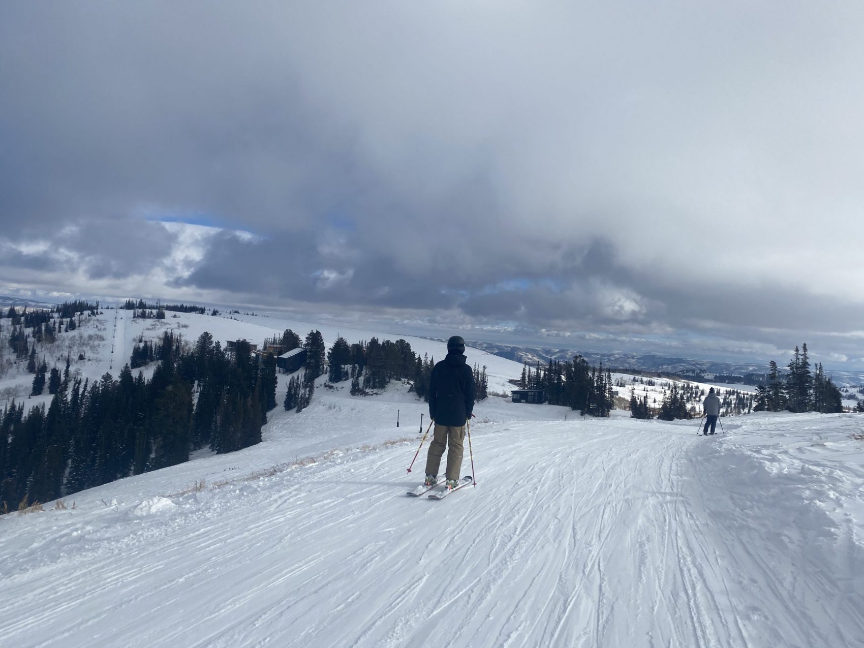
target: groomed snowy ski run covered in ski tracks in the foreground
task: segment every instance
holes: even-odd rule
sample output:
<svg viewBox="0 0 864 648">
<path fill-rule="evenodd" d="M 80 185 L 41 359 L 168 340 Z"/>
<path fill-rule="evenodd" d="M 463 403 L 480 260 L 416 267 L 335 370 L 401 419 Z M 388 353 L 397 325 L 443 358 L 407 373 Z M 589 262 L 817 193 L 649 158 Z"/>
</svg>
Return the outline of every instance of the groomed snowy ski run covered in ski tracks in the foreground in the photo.
<svg viewBox="0 0 864 648">
<path fill-rule="evenodd" d="M 382 423 L 422 403 L 342 393 L 0 518 L 0 645 L 864 645 L 864 416 L 703 437 L 491 398 L 477 487 L 435 501 L 416 423 Z"/>
</svg>

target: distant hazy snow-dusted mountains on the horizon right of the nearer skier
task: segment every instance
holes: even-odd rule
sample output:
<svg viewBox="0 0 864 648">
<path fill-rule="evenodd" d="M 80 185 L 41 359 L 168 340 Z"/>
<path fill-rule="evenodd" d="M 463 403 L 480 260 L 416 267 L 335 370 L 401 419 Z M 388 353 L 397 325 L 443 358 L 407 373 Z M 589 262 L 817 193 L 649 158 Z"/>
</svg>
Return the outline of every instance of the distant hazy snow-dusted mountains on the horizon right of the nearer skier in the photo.
<svg viewBox="0 0 864 648">
<path fill-rule="evenodd" d="M 467 341 L 468 346 L 492 353 L 516 362 L 527 362 L 529 365 L 546 365 L 553 360 L 572 360 L 577 352 L 573 349 L 561 349 L 546 346 L 515 346 L 495 344 L 492 342 Z M 613 371 L 637 370 L 641 372 L 667 372 L 678 376 L 698 375 L 711 380 L 717 375 L 740 376 L 745 384 L 758 384 L 757 377 L 768 372 L 768 365 L 759 363 L 717 362 L 715 360 L 696 360 L 689 358 L 669 358 L 654 353 L 579 353 L 590 365 L 603 363 Z M 783 359 L 778 359 L 778 365 L 784 367 Z M 862 384 L 864 373 L 826 371 L 836 384 Z"/>
</svg>

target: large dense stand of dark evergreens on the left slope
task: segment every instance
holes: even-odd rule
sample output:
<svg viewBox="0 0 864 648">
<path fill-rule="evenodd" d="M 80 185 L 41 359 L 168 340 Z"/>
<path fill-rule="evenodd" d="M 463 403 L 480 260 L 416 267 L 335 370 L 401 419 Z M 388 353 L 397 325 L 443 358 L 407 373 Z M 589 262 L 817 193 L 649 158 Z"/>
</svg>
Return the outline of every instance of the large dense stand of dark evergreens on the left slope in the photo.
<svg viewBox="0 0 864 648">
<path fill-rule="evenodd" d="M 276 406 L 276 360 L 260 365 L 251 346 L 226 353 L 204 333 L 191 351 L 170 332 L 157 345 L 153 377 L 125 365 L 83 383 L 66 371 L 46 408 L 25 413 L 11 403 L 0 417 L 0 510 L 47 501 L 130 474 L 187 461 L 189 452 L 218 453 L 261 441 Z M 194 397 L 197 393 L 197 401 Z"/>
</svg>

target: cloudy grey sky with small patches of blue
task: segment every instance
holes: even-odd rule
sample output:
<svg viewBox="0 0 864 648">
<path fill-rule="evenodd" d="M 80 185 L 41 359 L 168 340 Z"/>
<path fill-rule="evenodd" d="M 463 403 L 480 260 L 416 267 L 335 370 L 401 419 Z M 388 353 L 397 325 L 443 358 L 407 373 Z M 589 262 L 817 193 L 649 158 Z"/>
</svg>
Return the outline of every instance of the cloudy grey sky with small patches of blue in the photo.
<svg viewBox="0 0 864 648">
<path fill-rule="evenodd" d="M 862 34 L 858 0 L 2 3 L 0 293 L 864 368 Z"/>
</svg>

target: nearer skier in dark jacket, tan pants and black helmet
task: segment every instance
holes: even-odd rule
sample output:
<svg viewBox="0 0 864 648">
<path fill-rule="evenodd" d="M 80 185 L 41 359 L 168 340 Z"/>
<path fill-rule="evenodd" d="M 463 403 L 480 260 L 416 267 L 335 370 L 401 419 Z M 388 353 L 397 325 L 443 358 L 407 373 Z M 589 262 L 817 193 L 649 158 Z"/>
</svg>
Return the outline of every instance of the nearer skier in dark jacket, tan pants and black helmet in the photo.
<svg viewBox="0 0 864 648">
<path fill-rule="evenodd" d="M 438 481 L 444 448 L 447 452 L 447 487 L 459 485 L 465 423 L 474 409 L 474 375 L 465 362 L 465 340 L 454 335 L 447 340 L 447 357 L 436 362 L 429 379 L 429 416 L 435 421 L 435 436 L 426 456 L 427 485 Z"/>
</svg>

